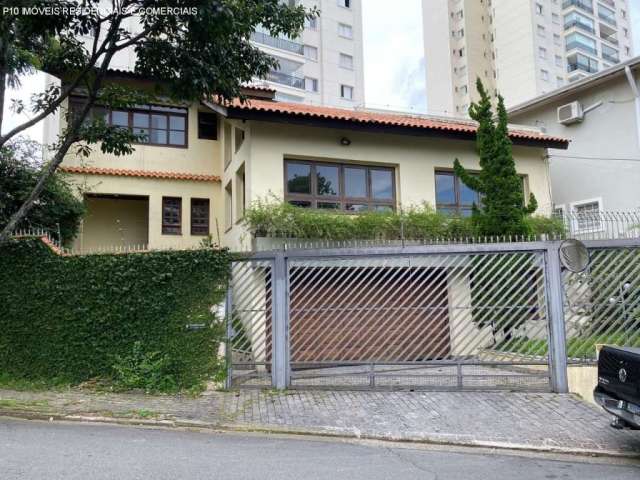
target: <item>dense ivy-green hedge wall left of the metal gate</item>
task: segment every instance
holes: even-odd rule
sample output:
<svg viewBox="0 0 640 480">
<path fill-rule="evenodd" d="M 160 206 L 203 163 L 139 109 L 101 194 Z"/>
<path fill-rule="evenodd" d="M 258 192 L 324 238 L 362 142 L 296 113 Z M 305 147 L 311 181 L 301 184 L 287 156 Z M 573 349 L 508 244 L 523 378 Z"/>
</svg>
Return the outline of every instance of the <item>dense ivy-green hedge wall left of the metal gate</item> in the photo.
<svg viewBox="0 0 640 480">
<path fill-rule="evenodd" d="M 219 369 L 210 308 L 229 265 L 212 249 L 61 257 L 11 241 L 0 248 L 0 375 L 78 383 L 155 368 L 159 383 L 140 386 L 196 387 Z"/>
</svg>

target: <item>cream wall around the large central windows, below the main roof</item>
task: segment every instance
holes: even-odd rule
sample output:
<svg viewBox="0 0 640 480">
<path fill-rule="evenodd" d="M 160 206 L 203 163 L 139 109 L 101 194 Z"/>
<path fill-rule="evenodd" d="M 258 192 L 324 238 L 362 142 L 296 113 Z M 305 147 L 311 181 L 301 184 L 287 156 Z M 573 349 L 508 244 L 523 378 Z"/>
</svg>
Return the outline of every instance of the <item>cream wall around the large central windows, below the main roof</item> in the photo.
<svg viewBox="0 0 640 480">
<path fill-rule="evenodd" d="M 264 122 L 243 124 L 248 148 L 244 160 L 238 156 L 225 170 L 223 185 L 231 180 L 241 162 L 246 169 L 247 203 L 284 196 L 284 159 L 300 158 L 334 162 L 378 164 L 395 167 L 397 201 L 409 207 L 428 202 L 435 205 L 435 170 L 452 168 L 455 158 L 467 168 L 479 169 L 475 143 L 439 138 L 379 135 L 328 128 L 278 125 Z M 340 145 L 347 137 L 351 145 Z M 539 213 L 551 211 L 547 165 L 542 148 L 514 147 L 518 173 L 526 176 L 527 190 L 539 203 Z M 247 158 L 250 161 L 247 162 Z M 528 193 L 528 192 L 527 192 Z M 248 249 L 250 239 L 236 223 L 225 234 L 225 244 Z M 241 237 L 245 238 L 240 242 Z"/>
</svg>

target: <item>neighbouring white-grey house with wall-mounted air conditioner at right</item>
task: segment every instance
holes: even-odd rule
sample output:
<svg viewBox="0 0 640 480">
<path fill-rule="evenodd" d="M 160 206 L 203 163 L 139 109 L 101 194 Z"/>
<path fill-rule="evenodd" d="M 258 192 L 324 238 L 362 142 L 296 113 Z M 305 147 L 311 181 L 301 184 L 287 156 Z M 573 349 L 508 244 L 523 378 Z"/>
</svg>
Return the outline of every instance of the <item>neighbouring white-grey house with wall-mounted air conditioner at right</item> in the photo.
<svg viewBox="0 0 640 480">
<path fill-rule="evenodd" d="M 513 121 L 571 140 L 549 150 L 558 215 L 640 209 L 639 80 L 636 57 L 509 109 Z"/>
</svg>

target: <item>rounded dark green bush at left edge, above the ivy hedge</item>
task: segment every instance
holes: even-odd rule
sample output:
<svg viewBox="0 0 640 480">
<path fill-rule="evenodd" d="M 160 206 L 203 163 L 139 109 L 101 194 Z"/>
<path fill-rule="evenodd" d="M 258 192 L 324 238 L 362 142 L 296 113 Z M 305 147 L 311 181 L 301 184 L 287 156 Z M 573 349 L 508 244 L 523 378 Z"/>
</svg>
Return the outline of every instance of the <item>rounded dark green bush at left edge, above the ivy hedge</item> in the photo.
<svg viewBox="0 0 640 480">
<path fill-rule="evenodd" d="M 37 143 L 23 139 L 0 147 L 0 226 L 7 224 L 38 180 L 40 165 L 35 159 L 39 149 Z M 84 205 L 71 185 L 62 174 L 54 174 L 17 228 L 34 226 L 55 232 L 60 224 L 62 240 L 68 243 L 76 236 L 83 214 Z"/>
</svg>

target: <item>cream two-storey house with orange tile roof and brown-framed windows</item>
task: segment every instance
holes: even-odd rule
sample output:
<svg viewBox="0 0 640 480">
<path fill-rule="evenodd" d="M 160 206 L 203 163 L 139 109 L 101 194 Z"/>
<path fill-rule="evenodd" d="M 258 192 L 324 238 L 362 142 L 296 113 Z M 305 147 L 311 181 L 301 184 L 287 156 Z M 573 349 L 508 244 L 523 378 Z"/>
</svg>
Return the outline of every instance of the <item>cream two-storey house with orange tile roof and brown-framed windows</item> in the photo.
<svg viewBox="0 0 640 480">
<path fill-rule="evenodd" d="M 278 102 L 274 93 L 99 112 L 148 140 L 131 155 L 94 148 L 88 158 L 65 158 L 61 170 L 88 208 L 75 246 L 183 248 L 210 235 L 249 250 L 243 216 L 259 199 L 351 213 L 426 202 L 462 215 L 477 201 L 453 174 L 456 158 L 479 168 L 473 122 Z M 526 127 L 511 137 L 525 194 L 535 194 L 538 213 L 551 213 L 547 148 L 566 141 Z"/>
</svg>

